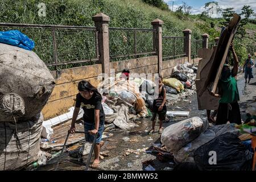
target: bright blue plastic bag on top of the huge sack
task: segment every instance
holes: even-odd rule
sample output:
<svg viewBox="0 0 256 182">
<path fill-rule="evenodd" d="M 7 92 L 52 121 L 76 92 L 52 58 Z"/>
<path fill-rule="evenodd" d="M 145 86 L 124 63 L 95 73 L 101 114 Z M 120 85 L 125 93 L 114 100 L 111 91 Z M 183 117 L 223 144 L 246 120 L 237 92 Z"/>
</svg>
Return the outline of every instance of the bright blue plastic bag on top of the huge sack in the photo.
<svg viewBox="0 0 256 182">
<path fill-rule="evenodd" d="M 35 42 L 18 30 L 0 31 L 0 43 L 10 44 L 32 51 Z"/>
</svg>

